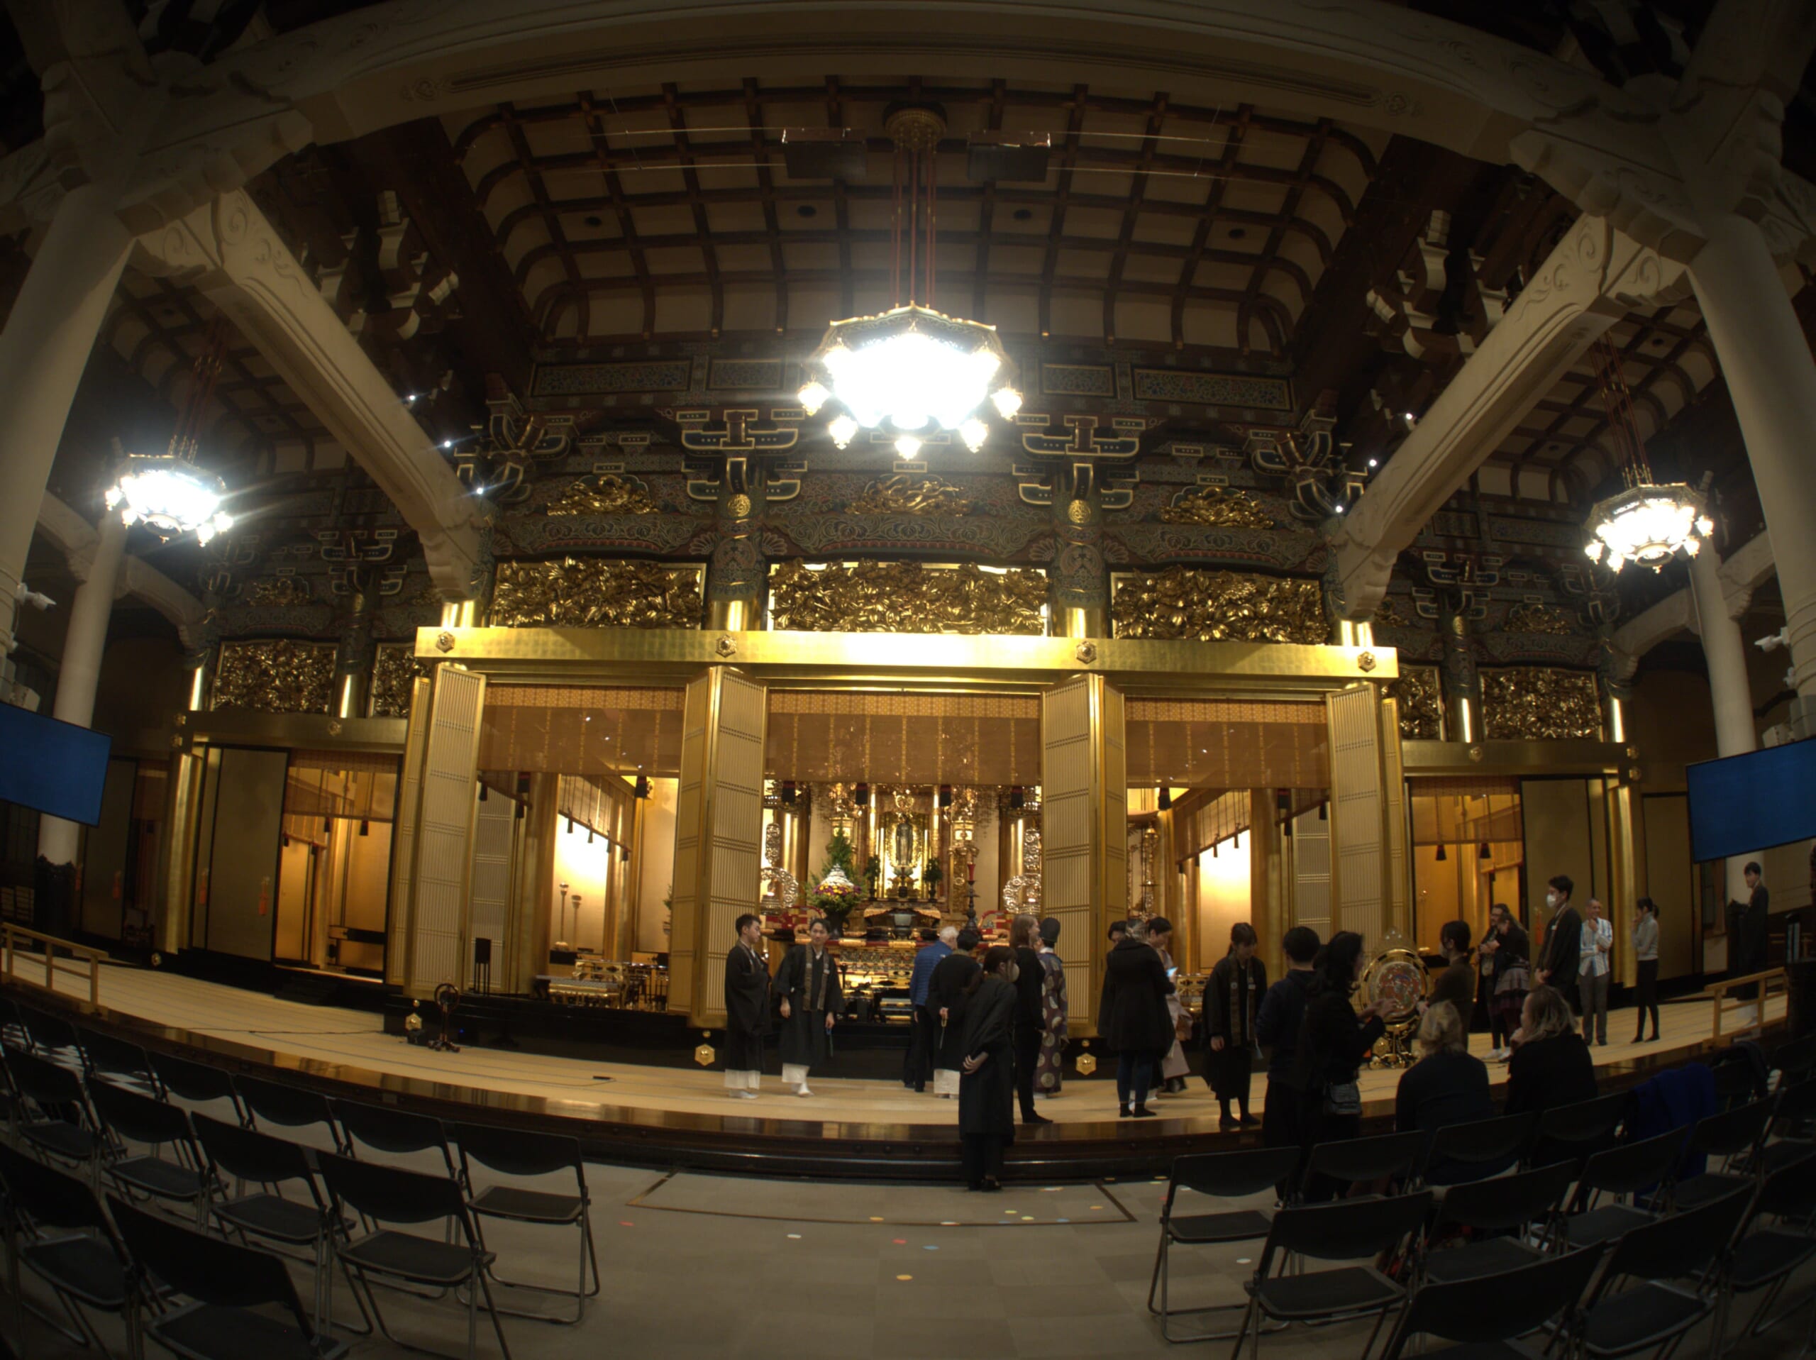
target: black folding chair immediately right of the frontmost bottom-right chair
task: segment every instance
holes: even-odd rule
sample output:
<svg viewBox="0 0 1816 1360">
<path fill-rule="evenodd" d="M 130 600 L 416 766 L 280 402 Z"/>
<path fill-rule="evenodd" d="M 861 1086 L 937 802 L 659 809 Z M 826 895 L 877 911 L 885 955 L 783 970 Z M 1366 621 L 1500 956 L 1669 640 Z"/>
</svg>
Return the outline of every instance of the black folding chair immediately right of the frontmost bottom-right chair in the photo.
<svg viewBox="0 0 1816 1360">
<path fill-rule="evenodd" d="M 1663 1355 L 1714 1313 L 1718 1267 L 1751 1198 L 1751 1188 L 1736 1189 L 1698 1209 L 1629 1229 L 1584 1302 L 1582 1353 L 1594 1360 L 1642 1351 Z M 1616 1289 L 1622 1280 L 1642 1284 Z"/>
</svg>

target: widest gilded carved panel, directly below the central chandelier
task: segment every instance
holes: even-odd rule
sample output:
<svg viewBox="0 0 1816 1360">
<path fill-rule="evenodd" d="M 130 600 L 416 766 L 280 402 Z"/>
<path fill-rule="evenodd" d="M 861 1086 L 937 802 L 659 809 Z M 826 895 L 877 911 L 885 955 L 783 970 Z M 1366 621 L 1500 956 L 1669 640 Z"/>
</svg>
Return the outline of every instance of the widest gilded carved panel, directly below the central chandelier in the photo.
<svg viewBox="0 0 1816 1360">
<path fill-rule="evenodd" d="M 770 625 L 795 632 L 1046 632 L 1046 577 L 915 561 L 803 561 L 770 570 Z"/>
</svg>

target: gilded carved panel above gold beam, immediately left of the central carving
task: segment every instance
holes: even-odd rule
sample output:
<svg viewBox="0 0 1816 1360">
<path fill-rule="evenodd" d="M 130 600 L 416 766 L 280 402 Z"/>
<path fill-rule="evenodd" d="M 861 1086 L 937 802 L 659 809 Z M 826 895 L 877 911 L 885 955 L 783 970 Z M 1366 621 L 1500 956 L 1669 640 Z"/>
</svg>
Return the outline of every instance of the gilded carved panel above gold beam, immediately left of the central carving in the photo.
<svg viewBox="0 0 1816 1360">
<path fill-rule="evenodd" d="M 650 561 L 505 561 L 492 590 L 499 628 L 699 628 L 701 568 Z"/>
</svg>

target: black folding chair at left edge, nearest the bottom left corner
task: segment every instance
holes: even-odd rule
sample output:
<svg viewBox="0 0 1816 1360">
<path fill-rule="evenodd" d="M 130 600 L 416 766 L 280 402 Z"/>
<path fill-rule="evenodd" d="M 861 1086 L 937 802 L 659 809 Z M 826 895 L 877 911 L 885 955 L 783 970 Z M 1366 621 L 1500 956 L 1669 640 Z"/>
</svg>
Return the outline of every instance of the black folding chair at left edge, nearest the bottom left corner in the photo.
<svg viewBox="0 0 1816 1360">
<path fill-rule="evenodd" d="M 93 1344 L 105 1355 L 107 1347 L 82 1309 L 116 1313 L 127 1320 L 127 1355 L 136 1356 L 133 1278 L 125 1249 L 94 1198 L 94 1189 L 5 1144 L 0 1144 L 0 1186 L 5 1186 L 9 1206 L 7 1264 L 13 1296 L 24 1302 L 18 1276 L 24 1266 L 51 1287 L 74 1322 L 74 1329 L 69 1329 L 49 1313 L 25 1304 L 60 1336 L 76 1345 Z M 22 1220 L 31 1226 L 31 1238 L 24 1242 Z"/>
</svg>

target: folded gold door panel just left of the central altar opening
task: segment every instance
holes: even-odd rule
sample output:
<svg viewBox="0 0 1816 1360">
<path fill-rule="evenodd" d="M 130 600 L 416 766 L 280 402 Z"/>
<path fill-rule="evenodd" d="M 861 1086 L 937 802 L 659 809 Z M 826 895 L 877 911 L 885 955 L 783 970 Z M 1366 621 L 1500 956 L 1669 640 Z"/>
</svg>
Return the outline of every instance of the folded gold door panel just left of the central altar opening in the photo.
<svg viewBox="0 0 1816 1360">
<path fill-rule="evenodd" d="M 763 872 L 766 688 L 728 666 L 686 686 L 676 799 L 668 1008 L 697 1026 L 725 1024 L 732 922 L 757 910 Z"/>
</svg>

